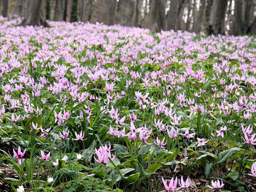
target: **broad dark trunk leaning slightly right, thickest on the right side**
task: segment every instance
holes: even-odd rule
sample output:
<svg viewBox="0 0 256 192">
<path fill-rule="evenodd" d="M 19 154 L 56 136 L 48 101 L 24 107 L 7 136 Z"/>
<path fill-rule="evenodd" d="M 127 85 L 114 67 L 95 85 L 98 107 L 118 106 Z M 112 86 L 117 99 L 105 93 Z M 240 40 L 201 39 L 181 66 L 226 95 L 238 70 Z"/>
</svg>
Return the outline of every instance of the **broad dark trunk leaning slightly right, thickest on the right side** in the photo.
<svg viewBox="0 0 256 192">
<path fill-rule="evenodd" d="M 228 0 L 213 0 L 209 22 L 209 34 L 224 34 L 224 21 Z"/>
</svg>

